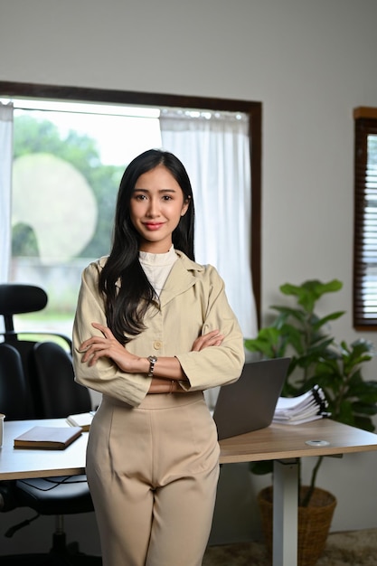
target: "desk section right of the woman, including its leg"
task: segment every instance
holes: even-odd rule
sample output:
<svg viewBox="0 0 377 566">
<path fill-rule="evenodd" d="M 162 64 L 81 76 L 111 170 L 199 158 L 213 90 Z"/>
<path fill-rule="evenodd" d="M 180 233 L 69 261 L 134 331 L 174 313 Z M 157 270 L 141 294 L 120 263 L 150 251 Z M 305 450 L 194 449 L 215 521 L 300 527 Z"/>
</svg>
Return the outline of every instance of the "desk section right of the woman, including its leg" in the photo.
<svg viewBox="0 0 377 566">
<path fill-rule="evenodd" d="M 315 441 L 309 446 L 307 441 Z M 297 458 L 377 450 L 377 435 L 334 420 L 267 429 L 224 439 L 221 462 L 274 460 L 273 566 L 297 566 Z"/>
</svg>

